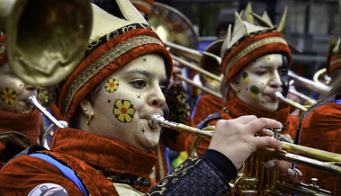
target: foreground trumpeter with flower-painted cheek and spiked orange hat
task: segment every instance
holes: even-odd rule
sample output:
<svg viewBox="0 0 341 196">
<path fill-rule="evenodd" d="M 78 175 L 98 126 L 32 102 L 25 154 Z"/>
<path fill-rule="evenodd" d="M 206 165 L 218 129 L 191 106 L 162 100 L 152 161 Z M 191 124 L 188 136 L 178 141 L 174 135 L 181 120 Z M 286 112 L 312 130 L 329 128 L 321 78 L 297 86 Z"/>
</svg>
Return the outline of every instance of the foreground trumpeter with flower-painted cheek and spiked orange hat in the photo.
<svg viewBox="0 0 341 196">
<path fill-rule="evenodd" d="M 0 195 L 28 195 L 44 183 L 69 195 L 218 195 L 229 191 L 236 168 L 256 148 L 281 147 L 274 138 L 254 137 L 271 135 L 265 128 L 282 129 L 276 120 L 221 120 L 205 155 L 187 159 L 152 188 L 156 183 L 149 174 L 157 156 L 151 149 L 160 129 L 151 128 L 148 119 L 163 114 L 172 59 L 129 1 L 113 2 L 115 16 L 92 6 L 84 60 L 49 88 L 69 128 L 55 131 L 52 151 L 33 146 L 4 165 Z"/>
</svg>

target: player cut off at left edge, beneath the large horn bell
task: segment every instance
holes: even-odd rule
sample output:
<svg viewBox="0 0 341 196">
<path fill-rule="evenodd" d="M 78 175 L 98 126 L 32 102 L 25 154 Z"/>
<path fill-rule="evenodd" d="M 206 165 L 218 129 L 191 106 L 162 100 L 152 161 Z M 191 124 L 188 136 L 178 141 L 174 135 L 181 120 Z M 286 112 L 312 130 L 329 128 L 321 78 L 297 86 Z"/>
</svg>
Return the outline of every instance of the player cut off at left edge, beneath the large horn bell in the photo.
<svg viewBox="0 0 341 196">
<path fill-rule="evenodd" d="M 39 144 L 41 115 L 26 101 L 37 95 L 13 74 L 6 57 L 6 36 L 0 31 L 0 168 L 31 144 Z"/>
</svg>

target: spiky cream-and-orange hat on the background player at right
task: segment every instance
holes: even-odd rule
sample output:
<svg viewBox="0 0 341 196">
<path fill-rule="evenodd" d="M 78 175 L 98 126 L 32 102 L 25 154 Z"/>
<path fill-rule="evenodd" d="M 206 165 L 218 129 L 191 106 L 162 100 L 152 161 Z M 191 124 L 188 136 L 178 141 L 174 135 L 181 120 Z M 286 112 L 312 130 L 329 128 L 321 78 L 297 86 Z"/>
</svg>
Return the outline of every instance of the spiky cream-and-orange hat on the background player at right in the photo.
<svg viewBox="0 0 341 196">
<path fill-rule="evenodd" d="M 256 58 L 274 52 L 282 53 L 288 58 L 289 65 L 292 63 L 292 53 L 288 43 L 279 31 L 245 22 L 238 13 L 235 13 L 233 33 L 229 26 L 227 37 L 221 48 L 220 56 L 223 59 L 221 71 L 229 83 L 231 77 L 242 67 L 247 66 Z"/>
</svg>

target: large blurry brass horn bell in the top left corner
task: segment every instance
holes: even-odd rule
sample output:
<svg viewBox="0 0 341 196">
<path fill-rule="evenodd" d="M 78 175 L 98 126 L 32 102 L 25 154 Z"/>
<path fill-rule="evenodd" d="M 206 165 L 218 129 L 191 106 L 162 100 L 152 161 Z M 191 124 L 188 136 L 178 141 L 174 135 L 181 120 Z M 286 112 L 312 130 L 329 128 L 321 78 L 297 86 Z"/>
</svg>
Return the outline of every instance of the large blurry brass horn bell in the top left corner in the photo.
<svg viewBox="0 0 341 196">
<path fill-rule="evenodd" d="M 13 73 L 31 85 L 54 85 L 84 56 L 92 9 L 84 0 L 1 1 L 0 29 L 6 33 Z"/>
</svg>

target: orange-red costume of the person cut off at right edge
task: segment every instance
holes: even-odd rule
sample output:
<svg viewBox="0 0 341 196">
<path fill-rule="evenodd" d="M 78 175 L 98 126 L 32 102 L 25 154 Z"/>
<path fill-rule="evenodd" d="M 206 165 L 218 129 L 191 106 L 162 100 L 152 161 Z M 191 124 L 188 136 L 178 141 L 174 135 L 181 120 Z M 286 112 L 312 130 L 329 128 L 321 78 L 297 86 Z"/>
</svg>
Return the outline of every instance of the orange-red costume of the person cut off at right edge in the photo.
<svg viewBox="0 0 341 196">
<path fill-rule="evenodd" d="M 300 129 L 299 145 L 313 147 L 332 153 L 341 153 L 341 105 L 336 101 L 341 95 L 330 97 L 320 102 L 304 114 Z M 311 178 L 318 178 L 321 189 L 332 191 L 333 175 L 296 165 L 303 174 L 303 183 L 311 183 Z M 337 193 L 341 192 L 341 180 L 337 178 Z"/>
</svg>

